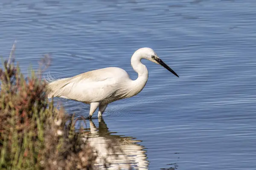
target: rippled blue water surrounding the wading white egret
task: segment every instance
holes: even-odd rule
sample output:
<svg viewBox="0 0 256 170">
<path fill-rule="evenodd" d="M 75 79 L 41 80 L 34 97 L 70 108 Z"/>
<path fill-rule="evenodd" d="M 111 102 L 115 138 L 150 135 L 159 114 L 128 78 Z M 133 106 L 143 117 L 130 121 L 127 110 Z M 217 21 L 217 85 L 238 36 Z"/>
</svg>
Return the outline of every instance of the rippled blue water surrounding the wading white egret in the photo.
<svg viewBox="0 0 256 170">
<path fill-rule="evenodd" d="M 139 140 L 151 170 L 256 169 L 255 0 L 1 0 L 0 55 L 15 39 L 25 74 L 49 53 L 57 78 L 117 66 L 136 79 L 131 55 L 153 48 L 180 78 L 143 61 L 143 91 L 103 115 L 109 136 Z"/>
</svg>

